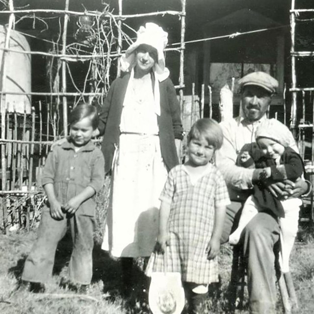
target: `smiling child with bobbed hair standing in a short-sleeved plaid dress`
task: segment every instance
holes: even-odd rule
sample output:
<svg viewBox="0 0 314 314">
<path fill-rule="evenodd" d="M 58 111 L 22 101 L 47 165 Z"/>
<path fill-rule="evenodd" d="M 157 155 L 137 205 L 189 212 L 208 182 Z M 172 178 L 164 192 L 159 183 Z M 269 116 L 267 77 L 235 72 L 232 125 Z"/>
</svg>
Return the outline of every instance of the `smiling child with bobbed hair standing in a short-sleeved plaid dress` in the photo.
<svg viewBox="0 0 314 314">
<path fill-rule="evenodd" d="M 157 251 L 148 269 L 181 273 L 191 314 L 203 313 L 208 284 L 218 282 L 217 255 L 230 200 L 221 173 L 209 161 L 222 141 L 216 121 L 198 120 L 188 134 L 188 161 L 169 172 L 160 195 Z"/>
</svg>

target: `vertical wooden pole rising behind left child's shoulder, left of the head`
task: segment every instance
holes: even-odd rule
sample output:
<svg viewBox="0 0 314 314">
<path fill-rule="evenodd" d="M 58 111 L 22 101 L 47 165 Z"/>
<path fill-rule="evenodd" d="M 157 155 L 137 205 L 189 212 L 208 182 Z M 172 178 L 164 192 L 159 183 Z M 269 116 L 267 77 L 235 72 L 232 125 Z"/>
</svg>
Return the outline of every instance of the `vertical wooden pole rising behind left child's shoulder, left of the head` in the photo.
<svg viewBox="0 0 314 314">
<path fill-rule="evenodd" d="M 65 10 L 69 10 L 69 1 L 65 0 Z M 69 14 L 64 15 L 64 24 L 63 24 L 63 35 L 62 35 L 62 54 L 66 54 L 67 47 L 67 29 L 68 29 L 68 20 Z M 62 60 L 62 92 L 66 92 L 67 89 L 67 78 L 66 78 L 66 60 Z M 62 97 L 63 104 L 63 132 L 64 136 L 68 135 L 68 105 L 67 98 Z"/>
</svg>

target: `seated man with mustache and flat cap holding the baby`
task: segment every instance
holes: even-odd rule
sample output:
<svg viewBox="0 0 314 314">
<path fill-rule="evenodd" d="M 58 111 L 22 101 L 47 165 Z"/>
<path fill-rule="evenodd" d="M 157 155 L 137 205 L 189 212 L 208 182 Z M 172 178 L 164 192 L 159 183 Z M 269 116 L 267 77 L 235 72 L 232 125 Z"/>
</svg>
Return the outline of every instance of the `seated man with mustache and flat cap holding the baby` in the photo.
<svg viewBox="0 0 314 314">
<path fill-rule="evenodd" d="M 239 80 L 241 88 L 240 115 L 223 121 L 220 126 L 224 142 L 216 151 L 216 164 L 222 172 L 229 190 L 231 205 L 227 207 L 222 243 L 236 228 L 240 209 L 252 193 L 253 183 L 259 178 L 261 169 L 240 167 L 236 160 L 243 147 L 254 147 L 255 131 L 265 119 L 272 94 L 278 81 L 264 72 L 254 72 Z M 297 151 L 291 135 L 290 147 Z M 309 185 L 298 179 L 295 183 L 273 183 L 269 190 L 281 197 L 299 197 L 306 193 Z M 275 314 L 275 255 L 274 245 L 279 240 L 280 229 L 276 217 L 259 212 L 246 226 L 241 240 L 248 262 L 248 289 L 252 314 Z"/>
</svg>

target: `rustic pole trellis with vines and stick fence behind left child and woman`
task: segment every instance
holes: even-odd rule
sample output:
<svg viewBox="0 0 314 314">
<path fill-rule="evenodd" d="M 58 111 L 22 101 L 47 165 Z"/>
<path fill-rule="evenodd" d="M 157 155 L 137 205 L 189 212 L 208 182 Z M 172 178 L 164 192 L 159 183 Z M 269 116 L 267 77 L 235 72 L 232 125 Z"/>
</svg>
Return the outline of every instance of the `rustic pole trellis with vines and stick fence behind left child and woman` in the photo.
<svg viewBox="0 0 314 314">
<path fill-rule="evenodd" d="M 111 67 L 111 61 L 116 60 L 122 55 L 122 44 L 125 40 L 129 44 L 131 43 L 131 38 L 123 31 L 123 21 L 126 19 L 133 19 L 139 17 L 148 16 L 164 16 L 173 15 L 177 16 L 181 22 L 181 40 L 179 48 L 166 48 L 166 51 L 176 51 L 180 53 L 180 75 L 179 75 L 179 85 L 176 86 L 179 89 L 180 105 L 183 108 L 183 67 L 184 67 L 184 34 L 185 34 L 185 4 L 186 0 L 181 0 L 181 11 L 158 11 L 150 13 L 139 13 L 139 14 L 123 14 L 123 0 L 118 1 L 118 14 L 113 14 L 108 10 L 106 6 L 103 12 L 99 11 L 70 11 L 69 4 L 70 1 L 75 0 L 65 0 L 64 10 L 53 10 L 53 9 L 16 9 L 14 6 L 14 0 L 0 0 L 3 4 L 7 4 L 7 9 L 0 11 L 2 15 L 9 16 L 9 22 L 6 26 L 5 34 L 5 44 L 3 48 L 3 55 L 1 60 L 1 74 L 0 74 L 0 108 L 1 108 L 1 207 L 0 210 L 0 223 L 4 231 L 7 230 L 9 224 L 20 224 L 21 217 L 20 210 L 25 206 L 26 202 L 31 202 L 31 206 L 26 204 L 26 227 L 31 225 L 30 222 L 30 207 L 35 208 L 32 210 L 34 212 L 33 216 L 36 216 L 36 211 L 43 203 L 44 194 L 40 189 L 33 185 L 33 159 L 34 159 L 34 148 L 36 147 L 40 152 L 39 167 L 37 172 L 40 172 L 40 167 L 45 163 L 45 157 L 48 154 L 49 146 L 53 141 L 58 139 L 61 134 L 59 134 L 58 125 L 59 120 L 62 119 L 63 134 L 66 136 L 68 134 L 68 98 L 74 98 L 74 106 L 78 103 L 81 98 L 88 97 L 89 101 L 92 102 L 94 99 L 98 98 L 102 100 L 105 96 L 107 88 L 109 86 L 109 69 Z M 39 52 L 39 51 L 18 51 L 10 48 L 10 33 L 15 28 L 17 21 L 17 14 L 23 16 L 24 18 L 30 18 L 35 21 L 38 19 L 45 23 L 41 14 L 58 14 L 63 16 L 63 25 L 60 23 L 60 41 L 61 43 L 53 43 L 53 50 L 50 52 Z M 70 16 L 76 17 L 90 17 L 96 21 L 96 43 L 95 47 L 91 52 L 82 51 L 81 47 L 75 46 L 73 44 L 67 43 L 67 33 L 68 33 L 68 21 Z M 21 19 L 21 18 L 20 18 Z M 109 25 L 108 32 L 110 36 L 106 36 L 106 32 L 102 30 L 104 27 L 103 21 Z M 103 23 L 103 24 L 102 24 Z M 117 34 L 117 35 L 116 35 Z M 102 48 L 106 45 L 106 51 Z M 61 47 L 61 50 L 59 49 Z M 54 76 L 54 81 L 52 82 L 52 88 L 49 92 L 30 92 L 30 93 L 20 93 L 20 92 L 9 92 L 6 90 L 6 70 L 7 64 L 5 62 L 7 54 L 9 52 L 26 53 L 28 55 L 42 55 L 51 57 L 56 64 L 57 75 Z M 88 61 L 88 77 L 86 75 L 84 89 L 77 92 L 67 91 L 67 80 L 74 80 L 71 75 L 69 68 L 70 62 L 83 62 Z M 103 73 L 99 73 L 100 65 L 103 66 Z M 60 75 L 59 75 L 60 73 Z M 120 74 L 119 62 L 117 62 L 117 75 Z M 97 83 L 98 78 L 104 77 L 104 88 L 99 88 Z M 91 88 L 86 91 L 86 85 L 89 83 L 89 78 L 94 78 L 94 81 L 90 83 Z M 74 84 L 75 85 L 75 84 Z M 60 88 L 59 88 L 60 87 Z M 26 115 L 26 110 L 24 114 L 19 117 L 17 112 L 7 112 L 6 110 L 6 95 L 17 94 L 17 95 L 29 95 L 29 96 L 42 96 L 46 97 L 50 101 L 47 104 L 42 104 L 39 102 L 38 107 L 32 107 L 31 115 Z M 47 116 L 43 117 L 43 106 L 46 105 Z M 100 104 L 101 105 L 101 104 Z M 52 110 L 54 107 L 54 111 Z M 62 111 L 59 109 L 62 109 Z M 62 112 L 62 113 L 60 113 Z M 61 117 L 61 118 L 60 118 Z M 43 118 L 47 120 L 46 129 L 44 130 Z M 18 139 L 17 135 L 17 125 L 18 119 L 23 122 L 23 134 L 25 133 L 26 120 L 29 121 L 30 131 L 27 139 Z M 8 138 L 9 134 L 9 123 L 11 121 L 12 136 Z M 36 138 L 35 134 L 35 124 L 37 129 L 39 129 L 39 136 Z M 39 126 L 39 127 L 38 127 Z M 53 133 L 52 136 L 50 133 Z M 9 153 L 10 152 L 10 153 Z M 44 152 L 44 153 L 43 153 Z M 8 156 L 10 154 L 10 156 Z M 12 167 L 8 169 L 8 158 L 11 160 Z M 27 177 L 24 178 L 24 170 L 27 172 Z M 10 176 L 10 181 L 8 182 L 8 176 Z M 18 177 L 18 178 L 17 178 Z M 17 178 L 17 179 L 16 179 Z M 9 198 L 9 196 L 11 196 Z M 13 200 L 13 201 L 12 201 Z M 22 200 L 22 201 L 21 201 Z"/>
</svg>

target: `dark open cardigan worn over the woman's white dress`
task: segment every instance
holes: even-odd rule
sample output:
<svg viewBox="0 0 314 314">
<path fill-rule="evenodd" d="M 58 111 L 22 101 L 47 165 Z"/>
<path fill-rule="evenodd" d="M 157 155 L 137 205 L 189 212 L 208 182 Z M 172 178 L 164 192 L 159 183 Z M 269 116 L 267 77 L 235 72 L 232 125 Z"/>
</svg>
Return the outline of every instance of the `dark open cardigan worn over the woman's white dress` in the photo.
<svg viewBox="0 0 314 314">
<path fill-rule="evenodd" d="M 130 73 L 116 78 L 109 89 L 100 111 L 99 131 L 104 134 L 102 152 L 105 156 L 105 173 L 111 170 L 115 144 L 119 145 L 120 122 L 123 102 L 127 91 Z M 152 80 L 154 84 L 154 76 Z M 180 106 L 176 90 L 170 78 L 159 82 L 160 116 L 157 117 L 161 156 L 168 172 L 179 163 L 175 138 L 183 139 Z"/>
</svg>

